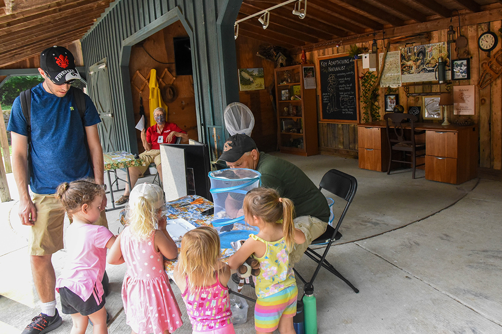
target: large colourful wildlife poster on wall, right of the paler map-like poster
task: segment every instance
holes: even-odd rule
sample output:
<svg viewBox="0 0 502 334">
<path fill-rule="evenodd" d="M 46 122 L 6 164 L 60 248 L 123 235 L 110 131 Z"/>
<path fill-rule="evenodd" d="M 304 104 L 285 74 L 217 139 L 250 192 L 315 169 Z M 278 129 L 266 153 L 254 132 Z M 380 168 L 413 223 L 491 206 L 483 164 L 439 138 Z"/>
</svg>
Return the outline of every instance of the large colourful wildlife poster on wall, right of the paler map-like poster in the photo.
<svg viewBox="0 0 502 334">
<path fill-rule="evenodd" d="M 448 44 L 446 42 L 417 45 L 401 49 L 401 82 L 420 82 L 438 80 L 438 59 L 446 62 L 446 80 L 451 79 L 448 63 Z"/>
</svg>

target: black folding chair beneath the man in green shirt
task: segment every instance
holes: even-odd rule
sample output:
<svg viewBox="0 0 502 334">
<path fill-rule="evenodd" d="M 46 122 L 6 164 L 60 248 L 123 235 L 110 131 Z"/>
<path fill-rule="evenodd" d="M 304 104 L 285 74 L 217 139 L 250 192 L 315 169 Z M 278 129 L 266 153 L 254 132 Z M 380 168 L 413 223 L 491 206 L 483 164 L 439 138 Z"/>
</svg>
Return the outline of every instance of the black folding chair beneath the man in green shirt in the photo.
<svg viewBox="0 0 502 334">
<path fill-rule="evenodd" d="M 318 237 L 311 243 L 311 245 L 316 245 L 327 242 L 326 248 L 324 249 L 324 253 L 321 255 L 310 247 L 307 248 L 307 250 L 305 251 L 305 254 L 308 257 L 317 262 L 317 267 L 310 280 L 306 281 L 298 273 L 298 271 L 296 271 L 296 269 L 293 270 L 295 271 L 296 277 L 300 278 L 300 280 L 303 281 L 305 286 L 304 290 L 313 289 L 314 279 L 317 276 L 317 273 L 319 272 L 319 269 L 322 266 L 328 269 L 335 276 L 339 277 L 345 283 L 347 283 L 347 285 L 350 286 L 355 293 L 358 293 L 359 290 L 354 285 L 352 285 L 352 283 L 350 283 L 345 277 L 343 277 L 342 274 L 340 274 L 333 267 L 333 265 L 331 265 L 331 263 L 329 263 L 326 260 L 326 255 L 328 254 L 329 248 L 331 247 L 331 243 L 333 243 L 333 241 L 338 240 L 341 237 L 341 234 L 338 232 L 338 229 L 340 228 L 343 218 L 345 217 L 345 214 L 348 211 L 348 207 L 350 206 L 350 203 L 352 203 L 352 199 L 354 198 L 355 191 L 357 190 L 357 180 L 355 179 L 355 177 L 348 175 L 344 172 L 340 172 L 339 170 L 336 169 L 331 169 L 322 177 L 322 180 L 319 183 L 319 190 L 321 189 L 326 189 L 327 191 L 333 193 L 334 195 L 344 199 L 345 201 L 347 201 L 347 204 L 345 205 L 345 209 L 343 210 L 340 219 L 338 219 L 338 223 L 336 224 L 336 226 L 333 228 L 330 225 L 328 225 L 328 227 L 326 228 L 326 232 L 324 232 L 320 237 Z"/>
</svg>

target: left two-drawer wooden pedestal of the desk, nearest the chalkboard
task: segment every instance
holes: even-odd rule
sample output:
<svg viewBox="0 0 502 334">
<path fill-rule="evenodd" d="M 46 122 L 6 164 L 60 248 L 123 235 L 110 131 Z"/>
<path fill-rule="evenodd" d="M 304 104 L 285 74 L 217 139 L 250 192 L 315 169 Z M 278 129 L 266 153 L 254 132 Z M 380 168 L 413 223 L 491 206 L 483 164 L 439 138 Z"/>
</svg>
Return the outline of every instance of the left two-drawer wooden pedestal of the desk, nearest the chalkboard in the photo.
<svg viewBox="0 0 502 334">
<path fill-rule="evenodd" d="M 387 134 L 384 128 L 361 126 L 357 127 L 359 146 L 359 168 L 387 171 L 389 163 L 389 148 Z"/>
</svg>

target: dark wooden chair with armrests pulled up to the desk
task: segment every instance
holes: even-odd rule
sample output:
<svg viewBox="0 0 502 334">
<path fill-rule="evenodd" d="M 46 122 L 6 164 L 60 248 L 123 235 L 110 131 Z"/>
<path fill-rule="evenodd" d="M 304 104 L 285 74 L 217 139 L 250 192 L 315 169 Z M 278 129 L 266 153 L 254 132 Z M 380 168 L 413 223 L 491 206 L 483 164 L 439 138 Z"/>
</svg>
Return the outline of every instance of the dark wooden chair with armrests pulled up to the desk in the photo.
<svg viewBox="0 0 502 334">
<path fill-rule="evenodd" d="M 387 174 L 391 173 L 391 164 L 394 161 L 411 164 L 413 168 L 412 178 L 415 178 L 416 167 L 425 165 L 425 162 L 417 165 L 417 157 L 425 156 L 425 143 L 417 143 L 415 136 L 425 133 L 425 130 L 415 130 L 415 122 L 418 120 L 415 115 L 388 113 L 384 115 L 384 119 L 387 123 L 387 141 L 389 143 Z M 400 152 L 402 159 L 393 159 L 393 151 Z M 407 157 L 410 157 L 410 159 L 407 159 Z"/>
</svg>

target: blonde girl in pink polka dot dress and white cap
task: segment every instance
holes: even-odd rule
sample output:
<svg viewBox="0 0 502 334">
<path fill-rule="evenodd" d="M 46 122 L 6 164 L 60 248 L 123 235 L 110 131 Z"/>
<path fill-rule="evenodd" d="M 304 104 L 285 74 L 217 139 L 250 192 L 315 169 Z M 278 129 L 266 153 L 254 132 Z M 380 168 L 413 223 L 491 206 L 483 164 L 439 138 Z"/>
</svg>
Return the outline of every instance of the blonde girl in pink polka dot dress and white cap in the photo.
<svg viewBox="0 0 502 334">
<path fill-rule="evenodd" d="M 133 334 L 166 334 L 180 327 L 181 312 L 164 271 L 162 255 L 174 259 L 178 249 L 161 217 L 164 195 L 158 185 L 143 183 L 129 197 L 129 225 L 118 235 L 107 260 L 126 262 L 122 301 Z M 155 229 L 157 223 L 158 229 Z"/>
</svg>

